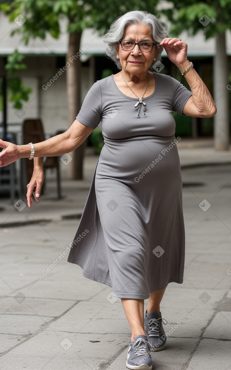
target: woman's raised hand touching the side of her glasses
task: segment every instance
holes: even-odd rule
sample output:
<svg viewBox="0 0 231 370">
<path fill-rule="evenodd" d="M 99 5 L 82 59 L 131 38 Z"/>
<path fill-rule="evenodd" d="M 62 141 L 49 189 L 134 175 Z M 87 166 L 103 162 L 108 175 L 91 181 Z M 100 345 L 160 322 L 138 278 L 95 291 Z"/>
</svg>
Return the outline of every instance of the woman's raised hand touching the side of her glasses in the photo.
<svg viewBox="0 0 231 370">
<path fill-rule="evenodd" d="M 184 65 L 187 63 L 187 49 L 188 45 L 181 41 L 179 38 L 164 38 L 160 42 L 160 45 L 164 47 L 167 52 L 169 59 L 177 66 Z"/>
</svg>

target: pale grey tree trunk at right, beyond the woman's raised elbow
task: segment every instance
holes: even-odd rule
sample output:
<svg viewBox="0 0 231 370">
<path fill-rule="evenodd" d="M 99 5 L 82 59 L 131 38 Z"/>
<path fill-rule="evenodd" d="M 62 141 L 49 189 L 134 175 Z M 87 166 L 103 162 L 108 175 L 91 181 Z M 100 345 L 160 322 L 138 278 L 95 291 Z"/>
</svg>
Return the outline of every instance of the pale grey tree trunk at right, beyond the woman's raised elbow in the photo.
<svg viewBox="0 0 231 370">
<path fill-rule="evenodd" d="M 217 34 L 215 38 L 213 91 L 217 113 L 214 116 L 214 148 L 215 150 L 229 150 L 228 61 L 225 49 L 225 33 Z"/>
</svg>

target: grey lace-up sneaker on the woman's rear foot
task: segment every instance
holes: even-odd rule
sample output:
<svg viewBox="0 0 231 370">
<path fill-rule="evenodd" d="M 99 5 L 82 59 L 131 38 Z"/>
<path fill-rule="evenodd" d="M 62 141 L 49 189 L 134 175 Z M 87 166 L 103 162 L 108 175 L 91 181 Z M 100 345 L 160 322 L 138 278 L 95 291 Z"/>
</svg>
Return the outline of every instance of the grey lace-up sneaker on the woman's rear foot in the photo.
<svg viewBox="0 0 231 370">
<path fill-rule="evenodd" d="M 144 329 L 151 352 L 161 351 L 166 346 L 166 335 L 162 323 L 167 324 L 167 321 L 162 319 L 161 312 L 145 312 Z"/>
</svg>

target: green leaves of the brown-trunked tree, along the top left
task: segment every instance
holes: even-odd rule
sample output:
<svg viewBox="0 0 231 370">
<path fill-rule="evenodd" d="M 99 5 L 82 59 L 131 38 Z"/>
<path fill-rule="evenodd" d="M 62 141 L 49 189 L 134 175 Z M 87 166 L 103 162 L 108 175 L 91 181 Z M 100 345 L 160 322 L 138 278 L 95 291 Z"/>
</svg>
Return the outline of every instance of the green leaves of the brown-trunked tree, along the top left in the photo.
<svg viewBox="0 0 231 370">
<path fill-rule="evenodd" d="M 13 22 L 19 14 L 26 22 L 12 34 L 23 33 L 28 43 L 31 37 L 45 39 L 47 32 L 54 38 L 60 34 L 59 20 L 68 19 L 67 32 L 81 32 L 94 27 L 104 33 L 112 21 L 131 10 L 155 12 L 159 0 L 13 0 L 0 6 Z"/>
</svg>

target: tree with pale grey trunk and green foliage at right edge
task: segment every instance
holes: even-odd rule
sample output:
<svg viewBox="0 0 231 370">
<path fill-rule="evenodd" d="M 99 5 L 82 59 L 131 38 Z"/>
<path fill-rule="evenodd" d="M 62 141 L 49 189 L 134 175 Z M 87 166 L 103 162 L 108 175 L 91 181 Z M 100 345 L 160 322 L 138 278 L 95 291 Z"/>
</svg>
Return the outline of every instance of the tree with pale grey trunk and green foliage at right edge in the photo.
<svg viewBox="0 0 231 370">
<path fill-rule="evenodd" d="M 226 31 L 231 30 L 231 0 L 167 0 L 169 8 L 163 13 L 172 24 L 172 34 L 182 31 L 195 35 L 202 31 L 205 38 L 214 37 L 215 55 L 213 58 L 213 96 L 217 106 L 214 116 L 214 147 L 216 150 L 229 150 L 228 99 L 228 57 L 226 54 Z M 229 96 L 228 96 L 229 95 Z M 229 111 L 228 111 L 229 110 Z"/>
</svg>

